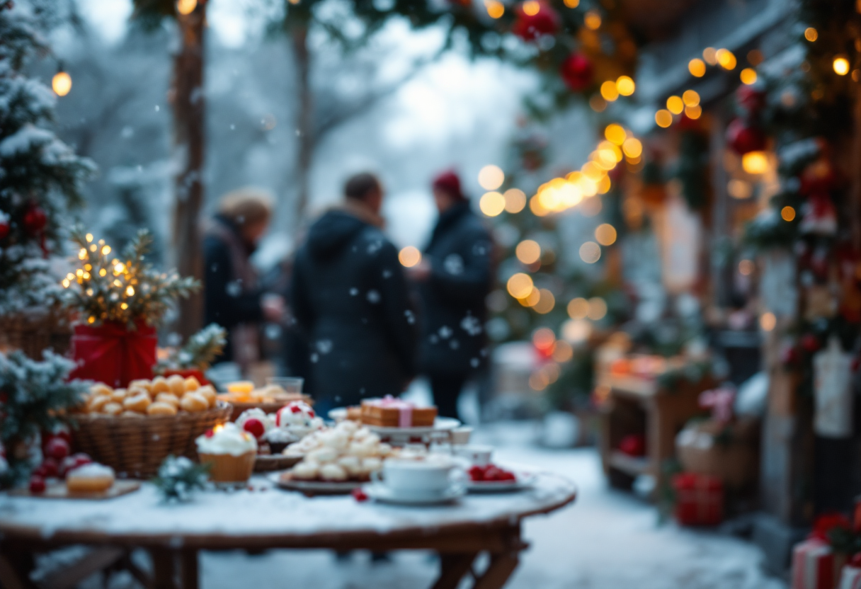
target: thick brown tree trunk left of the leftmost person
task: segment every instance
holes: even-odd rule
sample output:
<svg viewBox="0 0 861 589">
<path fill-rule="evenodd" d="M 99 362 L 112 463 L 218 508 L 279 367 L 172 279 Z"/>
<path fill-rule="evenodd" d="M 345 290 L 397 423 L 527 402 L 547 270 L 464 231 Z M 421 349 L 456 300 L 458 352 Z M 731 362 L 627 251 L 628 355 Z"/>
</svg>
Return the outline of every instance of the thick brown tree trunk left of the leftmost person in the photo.
<svg viewBox="0 0 861 589">
<path fill-rule="evenodd" d="M 203 279 L 200 214 L 203 205 L 204 100 L 203 32 L 206 3 L 177 20 L 182 46 L 174 58 L 170 97 L 174 116 L 174 150 L 182 158 L 176 180 L 173 218 L 173 261 L 180 276 Z M 203 323 L 202 294 L 179 303 L 177 332 L 188 338 Z"/>
</svg>

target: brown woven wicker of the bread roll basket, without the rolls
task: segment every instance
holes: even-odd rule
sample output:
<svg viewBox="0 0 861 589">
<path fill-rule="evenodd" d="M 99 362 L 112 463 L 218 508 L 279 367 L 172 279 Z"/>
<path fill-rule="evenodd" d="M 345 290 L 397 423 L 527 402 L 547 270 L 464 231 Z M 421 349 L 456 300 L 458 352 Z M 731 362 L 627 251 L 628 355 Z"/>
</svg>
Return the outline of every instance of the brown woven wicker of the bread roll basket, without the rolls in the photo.
<svg viewBox="0 0 861 589">
<path fill-rule="evenodd" d="M 114 468 L 117 473 L 149 478 L 167 456 L 197 460 L 195 437 L 215 425 L 225 424 L 232 406 L 219 401 L 204 412 L 170 416 L 117 418 L 93 414 L 77 417 L 75 439 L 81 451 Z"/>
</svg>

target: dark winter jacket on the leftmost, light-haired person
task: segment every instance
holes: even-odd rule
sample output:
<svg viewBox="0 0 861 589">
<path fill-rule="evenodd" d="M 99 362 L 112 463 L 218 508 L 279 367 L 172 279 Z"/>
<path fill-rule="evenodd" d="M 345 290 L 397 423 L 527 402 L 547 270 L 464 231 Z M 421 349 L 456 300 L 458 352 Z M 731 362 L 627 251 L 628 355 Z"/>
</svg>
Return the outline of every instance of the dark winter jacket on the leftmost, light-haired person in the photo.
<svg viewBox="0 0 861 589">
<path fill-rule="evenodd" d="M 235 328 L 263 319 L 262 293 L 249 276 L 252 269 L 248 258 L 253 251 L 254 248 L 239 236 L 237 228 L 223 217 L 216 215 L 205 230 L 203 325 L 217 323 L 228 332 L 220 362 L 234 360 L 231 336 Z M 238 265 L 242 267 L 237 268 Z"/>
</svg>

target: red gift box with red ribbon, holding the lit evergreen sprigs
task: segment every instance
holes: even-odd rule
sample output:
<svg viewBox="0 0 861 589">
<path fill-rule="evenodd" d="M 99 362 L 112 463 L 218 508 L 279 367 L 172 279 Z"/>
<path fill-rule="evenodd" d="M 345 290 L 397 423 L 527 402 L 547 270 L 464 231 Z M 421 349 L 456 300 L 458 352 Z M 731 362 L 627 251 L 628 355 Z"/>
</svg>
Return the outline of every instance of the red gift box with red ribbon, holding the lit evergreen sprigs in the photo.
<svg viewBox="0 0 861 589">
<path fill-rule="evenodd" d="M 75 325 L 72 358 L 77 368 L 71 378 L 127 387 L 140 378 L 152 378 L 158 336 L 154 327 L 140 322 L 136 330 L 120 323 Z"/>
</svg>

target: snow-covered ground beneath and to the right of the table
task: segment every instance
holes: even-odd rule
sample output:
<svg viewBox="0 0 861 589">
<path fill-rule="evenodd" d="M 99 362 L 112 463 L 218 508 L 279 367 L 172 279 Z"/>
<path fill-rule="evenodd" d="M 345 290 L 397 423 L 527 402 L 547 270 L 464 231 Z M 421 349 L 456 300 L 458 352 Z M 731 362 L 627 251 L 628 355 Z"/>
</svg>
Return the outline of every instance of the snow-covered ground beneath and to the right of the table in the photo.
<svg viewBox="0 0 861 589">
<path fill-rule="evenodd" d="M 753 544 L 659 524 L 653 507 L 606 487 L 594 450 L 538 449 L 530 433 L 528 425 L 498 425 L 480 431 L 476 441 L 496 446 L 497 462 L 565 474 L 578 483 L 580 495 L 574 505 L 526 522 L 531 548 L 511 589 L 784 588 L 761 572 Z M 390 562 L 371 564 L 366 554 L 337 561 L 325 551 L 231 552 L 205 554 L 201 571 L 204 589 L 401 589 L 431 586 L 437 564 L 424 553 L 396 553 Z"/>
</svg>

